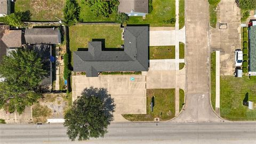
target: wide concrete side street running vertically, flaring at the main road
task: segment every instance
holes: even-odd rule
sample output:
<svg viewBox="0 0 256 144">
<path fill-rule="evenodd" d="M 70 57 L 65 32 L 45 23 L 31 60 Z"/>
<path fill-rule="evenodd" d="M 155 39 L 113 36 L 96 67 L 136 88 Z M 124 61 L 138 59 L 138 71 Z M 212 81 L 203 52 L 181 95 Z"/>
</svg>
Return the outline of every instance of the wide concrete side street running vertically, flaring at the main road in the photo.
<svg viewBox="0 0 256 144">
<path fill-rule="evenodd" d="M 174 122 L 220 122 L 210 105 L 209 4 L 186 2 L 186 105 Z"/>
</svg>

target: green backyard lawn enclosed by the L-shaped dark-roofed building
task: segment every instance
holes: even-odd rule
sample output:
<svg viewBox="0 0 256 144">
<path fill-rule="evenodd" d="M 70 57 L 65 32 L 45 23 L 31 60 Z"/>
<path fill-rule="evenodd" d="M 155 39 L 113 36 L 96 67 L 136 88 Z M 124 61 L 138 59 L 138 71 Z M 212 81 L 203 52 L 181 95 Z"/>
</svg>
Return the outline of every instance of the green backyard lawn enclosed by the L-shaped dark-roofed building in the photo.
<svg viewBox="0 0 256 144">
<path fill-rule="evenodd" d="M 95 39 L 105 41 L 106 48 L 119 48 L 124 43 L 121 35 L 120 25 L 71 26 L 69 28 L 70 51 L 77 51 L 78 48 L 88 48 L 88 42 Z M 71 63 L 73 63 L 73 60 L 71 60 Z"/>
</svg>

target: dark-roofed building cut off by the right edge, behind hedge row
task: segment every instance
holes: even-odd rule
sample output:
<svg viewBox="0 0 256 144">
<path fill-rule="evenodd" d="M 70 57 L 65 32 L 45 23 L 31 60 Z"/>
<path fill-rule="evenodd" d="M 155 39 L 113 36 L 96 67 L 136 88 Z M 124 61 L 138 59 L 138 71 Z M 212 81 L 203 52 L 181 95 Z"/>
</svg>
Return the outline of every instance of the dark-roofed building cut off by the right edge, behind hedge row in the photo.
<svg viewBox="0 0 256 144">
<path fill-rule="evenodd" d="M 248 30 L 249 37 L 249 75 L 256 75 L 256 21 L 252 21 Z"/>
</svg>

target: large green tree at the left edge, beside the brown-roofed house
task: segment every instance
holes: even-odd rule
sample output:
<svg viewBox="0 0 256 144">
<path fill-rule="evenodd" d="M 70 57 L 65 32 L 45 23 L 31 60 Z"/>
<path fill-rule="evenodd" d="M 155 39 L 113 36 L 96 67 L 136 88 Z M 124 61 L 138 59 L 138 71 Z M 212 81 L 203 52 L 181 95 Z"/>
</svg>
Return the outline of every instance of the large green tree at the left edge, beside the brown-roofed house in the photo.
<svg viewBox="0 0 256 144">
<path fill-rule="evenodd" d="M 18 49 L 4 56 L 0 65 L 0 76 L 4 78 L 0 83 L 0 108 L 21 114 L 41 97 L 38 85 L 46 74 L 41 58 L 33 50 Z"/>
</svg>

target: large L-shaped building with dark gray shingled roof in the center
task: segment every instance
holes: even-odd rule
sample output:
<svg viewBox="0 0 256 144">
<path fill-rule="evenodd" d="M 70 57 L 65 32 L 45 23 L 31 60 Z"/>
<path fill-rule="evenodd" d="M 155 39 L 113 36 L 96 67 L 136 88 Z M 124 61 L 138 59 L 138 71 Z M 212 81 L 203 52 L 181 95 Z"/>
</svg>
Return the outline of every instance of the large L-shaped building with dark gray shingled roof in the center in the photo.
<svg viewBox="0 0 256 144">
<path fill-rule="evenodd" d="M 89 42 L 88 51 L 73 53 L 74 71 L 85 71 L 87 77 L 101 71 L 148 71 L 148 46 L 148 27 L 124 27 L 123 51 L 107 51 L 101 42 Z"/>
</svg>

